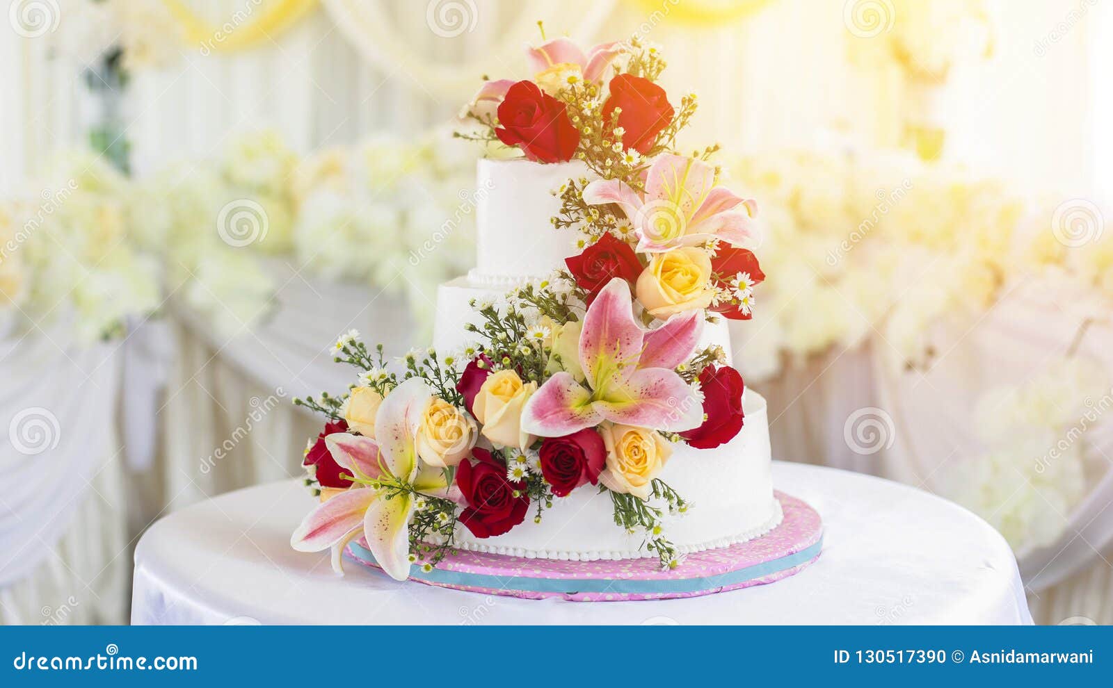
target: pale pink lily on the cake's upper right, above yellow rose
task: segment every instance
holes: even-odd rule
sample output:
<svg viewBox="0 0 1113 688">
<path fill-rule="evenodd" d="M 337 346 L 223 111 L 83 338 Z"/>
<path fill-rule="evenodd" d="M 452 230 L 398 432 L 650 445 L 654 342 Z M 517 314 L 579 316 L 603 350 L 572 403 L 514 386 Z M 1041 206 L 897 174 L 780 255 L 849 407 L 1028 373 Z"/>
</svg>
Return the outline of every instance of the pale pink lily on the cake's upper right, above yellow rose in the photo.
<svg viewBox="0 0 1113 688">
<path fill-rule="evenodd" d="M 617 179 L 598 179 L 583 189 L 583 200 L 621 207 L 641 252 L 697 246 L 708 239 L 740 246 L 757 233 L 757 203 L 715 186 L 715 168 L 684 156 L 656 158 L 646 172 L 644 193 Z"/>
</svg>

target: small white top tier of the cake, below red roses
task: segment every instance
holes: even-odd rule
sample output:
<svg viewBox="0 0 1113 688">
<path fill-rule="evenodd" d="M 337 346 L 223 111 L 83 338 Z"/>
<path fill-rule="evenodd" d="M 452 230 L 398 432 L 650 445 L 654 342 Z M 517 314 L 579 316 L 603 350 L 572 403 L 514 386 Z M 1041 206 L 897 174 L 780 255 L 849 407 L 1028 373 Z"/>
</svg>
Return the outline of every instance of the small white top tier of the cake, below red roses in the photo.
<svg viewBox="0 0 1113 688">
<path fill-rule="evenodd" d="M 574 256 L 573 232 L 553 229 L 560 211 L 553 191 L 588 177 L 579 161 L 539 164 L 529 160 L 479 161 L 481 193 L 475 208 L 477 281 L 512 282 L 546 277 Z"/>
</svg>

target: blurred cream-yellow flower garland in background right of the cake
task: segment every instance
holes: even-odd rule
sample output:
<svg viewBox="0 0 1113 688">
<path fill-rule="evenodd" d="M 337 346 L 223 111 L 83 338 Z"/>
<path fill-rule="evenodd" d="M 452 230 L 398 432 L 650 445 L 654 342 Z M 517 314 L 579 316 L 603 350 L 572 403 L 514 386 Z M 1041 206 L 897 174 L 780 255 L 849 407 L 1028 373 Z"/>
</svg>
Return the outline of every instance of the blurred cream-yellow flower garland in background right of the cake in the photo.
<svg viewBox="0 0 1113 688">
<path fill-rule="evenodd" d="M 924 367 L 933 323 L 976 318 L 1032 275 L 1113 298 L 1113 239 L 1067 250 L 1045 229 L 1065 221 L 1053 203 L 1003 179 L 897 151 L 774 151 L 728 167 L 762 199 L 762 250 L 778 266 L 747 341 L 754 379 L 874 330 L 896 370 Z"/>
</svg>

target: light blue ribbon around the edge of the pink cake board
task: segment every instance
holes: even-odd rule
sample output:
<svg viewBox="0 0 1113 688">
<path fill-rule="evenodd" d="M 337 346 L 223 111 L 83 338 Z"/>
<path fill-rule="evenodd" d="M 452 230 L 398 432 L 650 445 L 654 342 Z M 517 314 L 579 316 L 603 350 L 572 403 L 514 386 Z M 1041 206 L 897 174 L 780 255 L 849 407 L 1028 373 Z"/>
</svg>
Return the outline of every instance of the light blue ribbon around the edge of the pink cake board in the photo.
<svg viewBox="0 0 1113 688">
<path fill-rule="evenodd" d="M 599 578 L 536 578 L 531 576 L 492 576 L 490 574 L 469 574 L 465 571 L 451 571 L 447 569 L 433 569 L 430 572 L 421 570 L 414 565 L 410 568 L 410 577 L 424 580 L 431 584 L 450 586 L 466 586 L 472 588 L 490 588 L 494 590 L 521 591 L 521 592 L 561 592 L 574 595 L 577 592 L 614 592 L 618 595 L 656 595 L 662 592 L 702 592 L 716 588 L 735 586 L 755 578 L 761 578 L 771 574 L 778 574 L 796 566 L 801 566 L 819 556 L 823 549 L 823 536 L 811 546 L 798 552 L 786 555 L 778 559 L 770 559 L 761 564 L 717 574 L 715 576 L 702 576 L 699 578 L 674 578 L 668 580 L 630 580 L 630 579 L 599 579 Z M 362 547 L 358 542 L 348 544 L 348 548 L 358 559 L 365 562 L 374 562 L 375 556 Z"/>
</svg>

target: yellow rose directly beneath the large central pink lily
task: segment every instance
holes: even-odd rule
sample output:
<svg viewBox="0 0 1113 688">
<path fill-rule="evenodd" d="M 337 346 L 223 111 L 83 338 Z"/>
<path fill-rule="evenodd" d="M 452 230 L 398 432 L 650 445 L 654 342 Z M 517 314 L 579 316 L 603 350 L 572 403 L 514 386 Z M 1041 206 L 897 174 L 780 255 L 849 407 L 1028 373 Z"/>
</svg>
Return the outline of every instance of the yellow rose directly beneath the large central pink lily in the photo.
<svg viewBox="0 0 1113 688">
<path fill-rule="evenodd" d="M 599 479 L 607 489 L 649 499 L 653 478 L 672 456 L 672 445 L 648 428 L 604 422 L 599 433 L 607 447 L 607 468 Z"/>
</svg>

